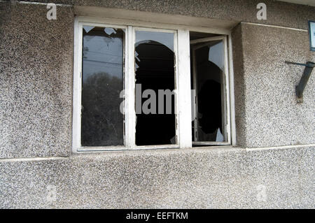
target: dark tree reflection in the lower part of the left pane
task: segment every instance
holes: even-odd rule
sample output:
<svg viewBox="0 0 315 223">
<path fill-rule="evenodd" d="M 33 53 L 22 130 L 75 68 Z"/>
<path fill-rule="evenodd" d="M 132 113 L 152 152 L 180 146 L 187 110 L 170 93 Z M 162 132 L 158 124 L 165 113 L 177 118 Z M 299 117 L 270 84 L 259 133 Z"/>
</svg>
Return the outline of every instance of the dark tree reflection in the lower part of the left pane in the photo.
<svg viewBox="0 0 315 223">
<path fill-rule="evenodd" d="M 83 146 L 123 145 L 123 114 L 120 91 L 123 81 L 108 73 L 94 73 L 83 81 Z"/>
</svg>

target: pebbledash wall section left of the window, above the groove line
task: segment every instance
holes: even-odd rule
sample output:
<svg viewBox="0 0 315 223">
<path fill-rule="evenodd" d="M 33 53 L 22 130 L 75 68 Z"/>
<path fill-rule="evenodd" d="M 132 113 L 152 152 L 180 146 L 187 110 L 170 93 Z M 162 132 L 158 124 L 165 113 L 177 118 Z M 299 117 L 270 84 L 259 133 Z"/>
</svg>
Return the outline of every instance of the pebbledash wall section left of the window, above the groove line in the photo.
<svg viewBox="0 0 315 223">
<path fill-rule="evenodd" d="M 73 9 L 0 3 L 0 158 L 71 152 Z"/>
</svg>

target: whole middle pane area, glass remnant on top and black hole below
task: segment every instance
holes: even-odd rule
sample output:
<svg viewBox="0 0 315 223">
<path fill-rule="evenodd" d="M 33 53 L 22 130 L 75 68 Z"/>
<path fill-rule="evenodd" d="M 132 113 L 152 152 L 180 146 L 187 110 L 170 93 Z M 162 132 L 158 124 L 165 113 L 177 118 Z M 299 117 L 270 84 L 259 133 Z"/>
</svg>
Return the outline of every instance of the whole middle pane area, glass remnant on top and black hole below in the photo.
<svg viewBox="0 0 315 223">
<path fill-rule="evenodd" d="M 136 84 L 141 85 L 141 95 L 147 89 L 155 92 L 155 96 L 151 94 L 147 98 L 141 97 L 141 106 L 148 105 L 148 100 L 151 100 L 148 106 L 151 112 L 146 114 L 143 109 L 141 109 L 141 113 L 137 112 L 137 145 L 176 144 L 174 94 L 172 95 L 172 103 L 167 104 L 165 98 L 164 112 L 162 114 L 158 112 L 158 90 L 172 92 L 175 88 L 174 58 L 173 33 L 136 31 Z M 136 106 L 139 106 L 139 104 Z M 172 107 L 171 113 L 167 113 L 167 106 Z"/>
</svg>

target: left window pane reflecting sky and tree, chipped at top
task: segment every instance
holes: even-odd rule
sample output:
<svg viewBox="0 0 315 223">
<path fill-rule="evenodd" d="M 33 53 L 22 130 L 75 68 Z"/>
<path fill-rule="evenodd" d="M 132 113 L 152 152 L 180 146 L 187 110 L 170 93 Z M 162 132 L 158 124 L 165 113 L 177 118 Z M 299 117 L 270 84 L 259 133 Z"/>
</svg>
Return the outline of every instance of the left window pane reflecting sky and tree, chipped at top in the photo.
<svg viewBox="0 0 315 223">
<path fill-rule="evenodd" d="M 83 26 L 81 145 L 124 145 L 125 31 Z"/>
</svg>

